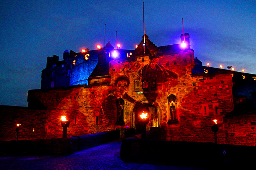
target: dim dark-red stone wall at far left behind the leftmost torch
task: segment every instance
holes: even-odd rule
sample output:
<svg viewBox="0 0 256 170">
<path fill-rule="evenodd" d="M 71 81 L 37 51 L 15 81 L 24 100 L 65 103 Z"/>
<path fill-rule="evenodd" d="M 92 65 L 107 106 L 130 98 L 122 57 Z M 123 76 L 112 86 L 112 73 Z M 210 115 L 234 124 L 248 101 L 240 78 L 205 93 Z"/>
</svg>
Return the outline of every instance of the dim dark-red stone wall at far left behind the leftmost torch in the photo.
<svg viewBox="0 0 256 170">
<path fill-rule="evenodd" d="M 19 140 L 44 139 L 46 110 L 28 107 L 0 106 L 0 141 L 16 140 L 19 123 Z M 33 131 L 34 130 L 34 131 Z"/>
</svg>

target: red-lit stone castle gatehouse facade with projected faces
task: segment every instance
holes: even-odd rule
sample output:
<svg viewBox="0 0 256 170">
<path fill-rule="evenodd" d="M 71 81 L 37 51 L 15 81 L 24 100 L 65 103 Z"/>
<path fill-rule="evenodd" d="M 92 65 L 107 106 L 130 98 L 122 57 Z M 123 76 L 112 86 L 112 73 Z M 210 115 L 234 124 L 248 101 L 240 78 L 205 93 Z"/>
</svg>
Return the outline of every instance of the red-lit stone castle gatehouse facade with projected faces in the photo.
<svg viewBox="0 0 256 170">
<path fill-rule="evenodd" d="M 209 68 L 194 73 L 198 63 L 192 49 L 179 44 L 157 47 L 146 36 L 144 53 L 142 44 L 126 58 L 110 59 L 99 49 L 88 85 L 30 90 L 29 107 L 45 108 L 40 111 L 45 118 L 41 137 L 61 138 L 63 115 L 70 121 L 68 137 L 116 128 L 140 133 L 139 115 L 144 112 L 146 129 L 161 128 L 166 140 L 214 142 L 211 126 L 216 119 L 218 143 L 256 146 L 255 112 L 228 116 L 235 108 L 235 72 Z"/>
</svg>

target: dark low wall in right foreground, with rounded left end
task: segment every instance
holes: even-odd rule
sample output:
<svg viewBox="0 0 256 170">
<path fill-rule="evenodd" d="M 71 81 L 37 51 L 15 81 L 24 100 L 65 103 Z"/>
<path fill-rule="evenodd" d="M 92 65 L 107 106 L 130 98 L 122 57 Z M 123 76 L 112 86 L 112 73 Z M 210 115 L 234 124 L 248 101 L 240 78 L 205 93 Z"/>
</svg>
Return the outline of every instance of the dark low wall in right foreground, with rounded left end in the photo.
<svg viewBox="0 0 256 170">
<path fill-rule="evenodd" d="M 124 162 L 245 169 L 254 166 L 254 146 L 143 140 L 135 137 L 122 141 L 120 157 Z"/>
</svg>

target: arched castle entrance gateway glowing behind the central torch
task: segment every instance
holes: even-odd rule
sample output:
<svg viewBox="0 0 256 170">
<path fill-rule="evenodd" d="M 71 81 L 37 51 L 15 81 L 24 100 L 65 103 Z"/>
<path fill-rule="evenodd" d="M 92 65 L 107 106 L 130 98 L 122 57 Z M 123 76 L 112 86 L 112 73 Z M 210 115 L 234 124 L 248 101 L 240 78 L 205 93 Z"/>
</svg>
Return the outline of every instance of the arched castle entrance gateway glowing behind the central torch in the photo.
<svg viewBox="0 0 256 170">
<path fill-rule="evenodd" d="M 149 123 L 146 125 L 146 130 L 149 131 L 151 127 L 159 127 L 160 109 L 156 103 L 148 103 L 147 100 L 141 101 L 133 108 L 133 127 L 136 133 L 141 133 L 141 113 L 147 113 Z"/>
</svg>

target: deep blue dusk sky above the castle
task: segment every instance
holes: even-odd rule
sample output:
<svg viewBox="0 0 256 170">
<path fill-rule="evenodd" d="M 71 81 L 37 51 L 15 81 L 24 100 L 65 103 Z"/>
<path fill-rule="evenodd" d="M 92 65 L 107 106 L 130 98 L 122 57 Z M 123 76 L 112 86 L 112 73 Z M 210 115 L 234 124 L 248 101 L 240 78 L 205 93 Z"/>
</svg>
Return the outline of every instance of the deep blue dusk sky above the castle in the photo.
<svg viewBox="0 0 256 170">
<path fill-rule="evenodd" d="M 195 57 L 256 74 L 255 0 L 144 0 L 145 31 L 157 46 L 180 43 L 182 20 Z M 4 0 L 0 11 L 0 105 L 27 106 L 41 87 L 47 56 L 81 48 L 134 49 L 143 36 L 143 1 Z"/>
</svg>

